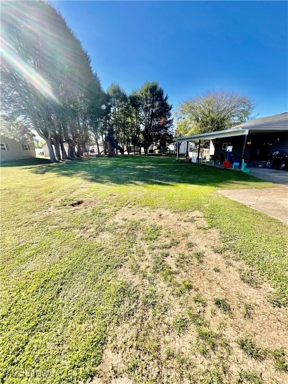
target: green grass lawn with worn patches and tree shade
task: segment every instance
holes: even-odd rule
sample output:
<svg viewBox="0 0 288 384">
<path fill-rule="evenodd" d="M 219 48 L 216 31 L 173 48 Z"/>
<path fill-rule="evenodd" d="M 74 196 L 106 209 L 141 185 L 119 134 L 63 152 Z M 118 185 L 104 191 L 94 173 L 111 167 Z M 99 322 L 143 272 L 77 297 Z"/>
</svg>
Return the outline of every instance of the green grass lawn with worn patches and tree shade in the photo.
<svg viewBox="0 0 288 384">
<path fill-rule="evenodd" d="M 273 184 L 169 156 L 2 165 L 0 382 L 264 382 L 260 363 L 246 369 L 253 356 L 219 325 L 232 329 L 244 310 L 252 321 L 253 303 L 230 307 L 228 291 L 201 291 L 190 272 L 209 267 L 201 244 L 216 233 L 213 257 L 223 261 L 212 276 L 231 270 L 271 313 L 284 313 L 287 227 L 215 192 Z M 271 287 L 267 294 L 261 284 Z M 185 354 L 170 344 L 172 335 L 181 344 L 187 334 L 201 366 L 193 366 L 187 345 Z M 277 382 L 288 370 L 281 345 L 258 353 L 274 364 Z M 121 369 L 105 366 L 108 348 L 121 352 Z M 228 372 L 233 348 L 243 361 Z"/>
</svg>

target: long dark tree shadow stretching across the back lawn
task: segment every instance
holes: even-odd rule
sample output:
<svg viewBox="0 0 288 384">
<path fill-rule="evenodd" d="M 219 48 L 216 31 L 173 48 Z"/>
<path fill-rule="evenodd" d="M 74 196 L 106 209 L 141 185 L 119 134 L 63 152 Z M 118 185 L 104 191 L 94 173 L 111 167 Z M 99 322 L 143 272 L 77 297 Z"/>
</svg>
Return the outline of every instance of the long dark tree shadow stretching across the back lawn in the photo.
<svg viewBox="0 0 288 384">
<path fill-rule="evenodd" d="M 227 187 L 227 185 L 243 187 L 248 182 L 265 184 L 263 180 L 242 172 L 176 161 L 175 157 L 171 156 L 96 157 L 73 159 L 61 163 L 38 162 L 30 165 L 37 165 L 27 168 L 36 174 L 55 173 L 67 177 L 79 176 L 97 183 L 163 186 L 187 183 L 210 185 L 216 188 Z"/>
</svg>

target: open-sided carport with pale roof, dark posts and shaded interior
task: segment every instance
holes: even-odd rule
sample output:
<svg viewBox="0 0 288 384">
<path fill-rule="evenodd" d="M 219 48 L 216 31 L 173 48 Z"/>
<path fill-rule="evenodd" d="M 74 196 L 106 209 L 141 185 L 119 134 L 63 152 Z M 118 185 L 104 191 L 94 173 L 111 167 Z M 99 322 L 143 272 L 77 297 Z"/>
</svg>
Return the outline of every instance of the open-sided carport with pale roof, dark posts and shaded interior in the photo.
<svg viewBox="0 0 288 384">
<path fill-rule="evenodd" d="M 270 153 L 288 151 L 288 112 L 256 118 L 229 129 L 177 137 L 177 143 L 198 141 L 197 162 L 199 162 L 202 140 L 210 140 L 209 153 L 213 155 L 212 165 L 219 153 L 225 156 L 227 146 L 232 146 L 233 157 L 237 158 L 239 168 L 243 159 L 265 163 Z M 229 145 L 228 145 L 229 144 Z M 177 145 L 177 160 L 179 159 Z"/>
</svg>

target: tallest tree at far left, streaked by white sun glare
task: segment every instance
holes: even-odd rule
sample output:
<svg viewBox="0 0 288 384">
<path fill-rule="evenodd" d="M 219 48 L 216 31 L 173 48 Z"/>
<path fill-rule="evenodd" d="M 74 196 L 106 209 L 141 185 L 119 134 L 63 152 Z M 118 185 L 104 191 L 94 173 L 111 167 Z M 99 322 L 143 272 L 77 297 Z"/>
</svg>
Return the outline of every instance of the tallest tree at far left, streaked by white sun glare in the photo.
<svg viewBox="0 0 288 384">
<path fill-rule="evenodd" d="M 1 2 L 1 36 L 1 115 L 14 126 L 20 121 L 34 129 L 55 161 L 52 143 L 68 129 L 63 115 L 70 129 L 84 127 L 77 108 L 92 76 L 89 57 L 44 1 Z"/>
</svg>

